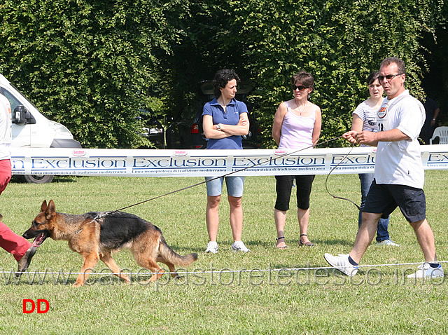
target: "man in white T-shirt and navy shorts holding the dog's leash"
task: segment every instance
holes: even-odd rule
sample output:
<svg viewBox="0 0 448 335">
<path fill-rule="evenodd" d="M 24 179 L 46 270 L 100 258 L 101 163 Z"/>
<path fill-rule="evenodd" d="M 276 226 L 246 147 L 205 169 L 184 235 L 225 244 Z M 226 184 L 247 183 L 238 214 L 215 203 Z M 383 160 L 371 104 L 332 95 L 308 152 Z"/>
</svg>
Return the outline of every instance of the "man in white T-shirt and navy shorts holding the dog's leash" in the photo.
<svg viewBox="0 0 448 335">
<path fill-rule="evenodd" d="M 423 105 L 405 90 L 405 63 L 388 57 L 379 68 L 379 83 L 386 99 L 377 111 L 378 132 L 346 132 L 351 143 L 377 146 L 374 182 L 363 210 L 363 223 L 348 255 L 325 254 L 325 260 L 346 275 L 358 273 L 358 263 L 374 238 L 381 217 L 396 207 L 414 228 L 425 263 L 408 278 L 444 276 L 437 263 L 434 234 L 426 220 L 426 198 L 423 192 L 424 170 L 418 142 L 425 121 Z"/>
</svg>

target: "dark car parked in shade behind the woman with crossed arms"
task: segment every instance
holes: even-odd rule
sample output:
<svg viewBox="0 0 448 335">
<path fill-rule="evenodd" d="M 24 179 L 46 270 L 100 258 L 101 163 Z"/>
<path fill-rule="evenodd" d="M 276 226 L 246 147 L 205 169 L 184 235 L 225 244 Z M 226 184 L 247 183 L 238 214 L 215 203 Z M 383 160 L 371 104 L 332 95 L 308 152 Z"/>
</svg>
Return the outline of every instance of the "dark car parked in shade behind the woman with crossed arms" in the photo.
<svg viewBox="0 0 448 335">
<path fill-rule="evenodd" d="M 258 122 L 253 115 L 252 105 L 247 101 L 247 95 L 253 90 L 249 82 L 238 85 L 235 99 L 247 105 L 249 117 L 249 132 L 243 136 L 244 149 L 258 149 Z M 185 107 L 177 116 L 167 115 L 167 149 L 206 149 L 207 138 L 202 130 L 202 108 L 204 104 L 214 99 L 211 81 L 201 81 L 197 84 L 197 100 Z"/>
</svg>

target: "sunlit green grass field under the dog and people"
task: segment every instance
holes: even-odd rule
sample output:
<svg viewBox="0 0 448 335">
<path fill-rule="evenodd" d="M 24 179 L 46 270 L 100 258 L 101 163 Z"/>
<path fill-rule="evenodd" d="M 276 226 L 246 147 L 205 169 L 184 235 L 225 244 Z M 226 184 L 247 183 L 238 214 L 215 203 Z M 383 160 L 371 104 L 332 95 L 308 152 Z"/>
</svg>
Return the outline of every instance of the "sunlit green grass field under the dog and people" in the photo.
<svg viewBox="0 0 448 335">
<path fill-rule="evenodd" d="M 437 254 L 448 260 L 447 172 L 426 172 L 427 215 Z M 44 199 L 55 200 L 58 212 L 82 214 L 116 210 L 174 191 L 202 178 L 56 177 L 51 184 L 11 182 L 0 196 L 3 222 L 22 234 Z M 244 189 L 243 240 L 248 254 L 230 250 L 228 203 L 221 204 L 218 254 L 207 246 L 205 186 L 174 193 L 127 212 L 162 229 L 180 254 L 199 259 L 183 280 L 164 275 L 144 285 L 142 271 L 128 250 L 115 254 L 118 265 L 133 275 L 125 285 L 107 275 L 101 262 L 85 287 L 73 288 L 82 258 L 66 242 L 46 240 L 29 271 L 15 280 L 8 271 L 17 263 L 0 252 L 0 329 L 8 334 L 444 334 L 448 332 L 448 283 L 443 278 L 408 280 L 417 265 L 366 267 L 352 279 L 328 269 L 325 252 L 347 253 L 358 227 L 357 209 L 325 191 L 325 176 L 316 176 L 311 193 L 309 238 L 316 247 L 299 247 L 295 210 L 288 214 L 288 249 L 275 245 L 274 177 L 247 177 Z M 358 175 L 331 175 L 337 196 L 360 200 Z M 295 196 L 291 199 L 295 207 Z M 371 245 L 361 265 L 423 261 L 412 228 L 399 210 L 391 215 L 391 238 L 400 247 Z M 165 267 L 164 264 L 161 264 Z M 448 265 L 444 265 L 448 269 Z M 315 269 L 322 267 L 321 269 Z M 300 270 L 297 270 L 300 269 Z M 304 268 L 311 268 L 305 270 Z M 270 270 L 270 271 L 269 271 Z M 45 272 L 33 274 L 34 272 Z M 213 271 L 213 273 L 210 273 Z M 231 272 L 233 271 L 233 272 Z M 48 313 L 22 313 L 23 299 L 45 299 Z"/>
</svg>

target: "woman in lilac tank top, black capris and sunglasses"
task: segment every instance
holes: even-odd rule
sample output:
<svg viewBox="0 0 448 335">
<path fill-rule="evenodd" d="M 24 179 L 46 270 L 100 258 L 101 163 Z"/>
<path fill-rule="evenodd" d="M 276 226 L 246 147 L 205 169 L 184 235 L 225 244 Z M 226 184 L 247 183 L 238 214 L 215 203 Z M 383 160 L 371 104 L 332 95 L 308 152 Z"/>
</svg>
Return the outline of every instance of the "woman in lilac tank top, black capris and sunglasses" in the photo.
<svg viewBox="0 0 448 335">
<path fill-rule="evenodd" d="M 321 109 L 309 102 L 314 89 L 314 78 L 305 71 L 291 77 L 294 98 L 281 102 L 274 116 L 272 137 L 279 149 L 303 149 L 318 142 L 321 135 Z M 277 230 L 276 247 L 286 249 L 284 228 L 286 212 L 289 210 L 291 190 L 295 180 L 297 191 L 297 218 L 299 220 L 299 245 L 313 247 L 308 239 L 309 195 L 314 175 L 276 176 L 276 203 L 274 219 Z"/>
</svg>

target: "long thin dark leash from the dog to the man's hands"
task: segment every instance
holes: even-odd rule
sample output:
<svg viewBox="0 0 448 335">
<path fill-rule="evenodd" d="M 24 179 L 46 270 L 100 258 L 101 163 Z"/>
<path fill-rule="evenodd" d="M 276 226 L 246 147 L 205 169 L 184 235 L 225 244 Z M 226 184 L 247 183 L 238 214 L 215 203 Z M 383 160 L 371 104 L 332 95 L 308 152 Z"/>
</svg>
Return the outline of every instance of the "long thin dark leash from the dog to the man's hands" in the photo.
<svg viewBox="0 0 448 335">
<path fill-rule="evenodd" d="M 199 183 L 197 183 L 197 184 L 193 184 L 193 185 L 190 185 L 190 186 L 186 186 L 186 187 L 183 187 L 182 189 L 177 189 L 177 190 L 175 190 L 175 191 L 171 191 L 171 192 L 162 194 L 162 195 L 160 195 L 160 196 L 155 196 L 154 198 L 150 198 L 150 199 L 147 199 L 147 200 L 140 201 L 139 203 L 134 203 L 133 205 L 128 205 L 128 206 L 122 207 L 122 208 L 120 208 L 120 209 L 118 209 L 118 210 L 113 210 L 113 211 L 110 211 L 110 212 L 103 212 L 102 214 L 98 214 L 97 217 L 95 217 L 94 219 L 92 219 L 92 221 L 90 221 L 90 222 L 96 221 L 97 219 L 101 219 L 102 217 L 106 217 L 107 215 L 113 214 L 113 213 L 115 213 L 115 212 L 120 212 L 120 211 L 122 211 L 122 210 L 126 210 L 127 208 L 130 208 L 130 207 L 134 207 L 134 206 L 137 206 L 137 205 L 141 205 L 141 204 L 143 204 L 143 203 L 148 203 L 148 201 L 152 201 L 152 200 L 155 200 L 155 199 L 158 199 L 158 198 L 162 198 L 162 197 L 164 197 L 164 196 L 169 196 L 170 194 L 177 193 L 177 192 L 180 192 L 180 191 L 185 191 L 186 189 L 191 189 L 191 188 L 193 188 L 193 187 L 195 187 L 195 186 L 199 186 L 199 185 L 202 185 L 202 184 L 211 182 L 212 180 L 219 179 L 219 178 L 222 178 L 222 177 L 228 177 L 229 175 L 233 175 L 234 173 L 241 172 L 241 171 L 250 169 L 250 168 L 255 167 L 255 166 L 258 166 L 258 165 L 262 165 L 262 164 L 265 164 L 265 163 L 269 163 L 269 162 L 272 162 L 273 160 L 276 160 L 276 159 L 279 159 L 279 158 L 283 158 L 283 157 L 286 157 L 286 156 L 290 156 L 290 155 L 292 155 L 293 153 L 297 153 L 297 152 L 300 152 L 300 151 L 303 151 L 303 150 L 306 150 L 306 149 L 311 149 L 311 148 L 314 148 L 315 146 L 321 146 L 322 144 L 325 144 L 325 143 L 329 143 L 329 142 L 335 141 L 336 139 L 339 139 L 339 138 L 342 138 L 342 135 L 341 135 L 341 136 L 338 136 L 338 137 L 333 137 L 332 139 L 328 139 L 328 140 L 326 140 L 326 141 L 324 141 L 324 142 L 319 142 L 319 143 L 316 143 L 316 144 L 312 144 L 312 145 L 307 146 L 307 147 L 302 148 L 302 149 L 297 149 L 297 150 L 292 151 L 292 152 L 289 152 L 289 153 L 284 153 L 283 155 L 277 156 L 277 157 L 275 157 L 275 158 L 269 158 L 269 159 L 266 159 L 266 160 L 264 160 L 264 161 L 262 161 L 262 162 L 260 162 L 260 163 L 257 163 L 257 164 L 254 164 L 254 165 L 251 165 L 251 166 L 248 166 L 248 167 L 244 167 L 244 168 L 242 168 L 242 169 L 240 169 L 240 170 L 236 170 L 236 171 L 229 172 L 229 173 L 227 173 L 227 174 L 225 174 L 225 175 L 221 175 L 221 176 L 218 176 L 218 177 L 214 177 L 214 178 L 209 179 L 209 180 L 204 180 L 203 182 L 199 182 Z M 353 149 L 353 146 L 351 147 L 351 149 Z M 330 173 L 329 173 L 328 176 L 327 176 L 327 180 L 328 180 L 328 177 L 330 176 L 331 172 L 332 172 L 333 170 L 335 170 L 335 168 L 336 168 L 337 166 L 339 166 L 339 164 L 341 164 L 342 161 L 344 161 L 344 159 L 345 159 L 346 157 L 349 156 L 349 154 L 351 153 L 351 149 L 350 149 L 349 153 L 347 153 L 346 156 L 344 156 L 344 158 L 342 158 L 342 160 L 341 160 L 335 167 L 332 168 L 332 170 L 330 171 Z M 332 195 L 332 194 L 328 191 L 327 180 L 325 180 L 325 189 L 327 190 L 328 194 L 330 194 L 330 196 L 332 196 L 333 198 L 337 198 L 337 199 L 347 200 L 347 201 L 353 203 L 353 205 L 355 205 L 356 207 L 358 207 L 358 205 L 356 205 L 356 203 L 354 203 L 353 201 L 351 201 L 351 200 L 349 200 L 349 199 L 342 198 L 342 197 L 337 197 L 337 196 Z M 358 209 L 360 209 L 360 207 L 358 207 Z"/>
</svg>

